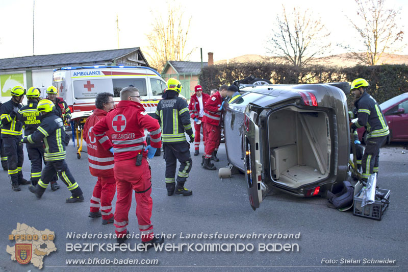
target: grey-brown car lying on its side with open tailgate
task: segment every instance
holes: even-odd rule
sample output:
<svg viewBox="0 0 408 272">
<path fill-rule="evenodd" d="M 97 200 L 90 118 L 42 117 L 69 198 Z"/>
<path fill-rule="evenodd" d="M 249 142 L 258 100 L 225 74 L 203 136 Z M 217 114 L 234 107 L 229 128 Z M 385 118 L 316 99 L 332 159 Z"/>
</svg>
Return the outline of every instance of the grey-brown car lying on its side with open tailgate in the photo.
<svg viewBox="0 0 408 272">
<path fill-rule="evenodd" d="M 254 210 L 272 189 L 325 195 L 347 179 L 349 88 L 346 82 L 253 85 L 225 105 L 227 159 L 244 172 Z"/>
</svg>

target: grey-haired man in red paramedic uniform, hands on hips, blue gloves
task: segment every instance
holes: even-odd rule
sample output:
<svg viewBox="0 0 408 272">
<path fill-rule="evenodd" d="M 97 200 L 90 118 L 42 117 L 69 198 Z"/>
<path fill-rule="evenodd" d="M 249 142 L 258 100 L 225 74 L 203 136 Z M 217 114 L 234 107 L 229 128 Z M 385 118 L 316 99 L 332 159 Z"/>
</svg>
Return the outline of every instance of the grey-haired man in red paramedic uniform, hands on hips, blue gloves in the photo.
<svg viewBox="0 0 408 272">
<path fill-rule="evenodd" d="M 150 132 L 150 145 L 146 146 L 144 129 Z M 107 132 L 111 134 L 109 140 Z M 129 210 L 132 192 L 135 191 L 136 217 L 146 249 L 153 244 L 163 243 L 162 237 L 154 237 L 151 225 L 151 172 L 147 158 L 153 158 L 161 147 L 159 122 L 149 116 L 140 103 L 139 90 L 125 87 L 120 91 L 120 102 L 116 108 L 93 127 L 93 134 L 105 150 L 114 153 L 114 174 L 117 200 L 113 224 L 117 242 L 127 237 Z"/>
</svg>

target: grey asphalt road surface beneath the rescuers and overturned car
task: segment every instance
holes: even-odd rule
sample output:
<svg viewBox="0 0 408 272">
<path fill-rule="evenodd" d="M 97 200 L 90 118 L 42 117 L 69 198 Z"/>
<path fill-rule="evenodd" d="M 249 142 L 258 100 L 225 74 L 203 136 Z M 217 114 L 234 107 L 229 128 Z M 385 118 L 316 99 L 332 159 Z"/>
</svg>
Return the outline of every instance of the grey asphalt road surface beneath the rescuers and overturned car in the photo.
<svg viewBox="0 0 408 272">
<path fill-rule="evenodd" d="M 201 146 L 202 150 L 202 146 Z M 204 170 L 199 165 L 200 156 L 193 156 L 193 169 L 186 187 L 193 195 L 167 196 L 164 183 L 165 163 L 163 156 L 150 160 L 152 168 L 152 199 L 154 202 L 152 224 L 156 233 L 175 234 L 167 243 L 243 243 L 253 244 L 253 251 L 244 252 L 66 252 L 66 243 L 114 242 L 113 239 L 67 239 L 68 232 L 113 233 L 113 225 L 101 225 L 101 218 L 89 218 L 89 199 L 95 178 L 89 174 L 87 154 L 77 159 L 72 143 L 68 146 L 67 163 L 84 191 L 86 201 L 66 204 L 69 192 L 62 182 L 61 189 L 52 192 L 49 188 L 41 200 L 22 186 L 13 192 L 7 172 L 0 172 L 1 231 L 0 270 L 38 270 L 32 264 L 20 265 L 10 260 L 6 245 L 14 245 L 8 235 L 17 222 L 38 230 L 55 231 L 58 251 L 44 258 L 44 271 L 229 271 L 229 270 L 386 270 L 406 271 L 407 226 L 408 226 L 408 154 L 401 154 L 402 147 L 381 150 L 378 184 L 391 190 L 391 204 L 381 221 L 353 216 L 352 212 L 339 212 L 328 208 L 321 197 L 299 199 L 284 193 L 267 196 L 256 211 L 250 208 L 243 175 L 220 180 L 218 171 Z M 193 153 L 193 147 L 191 148 Z M 227 164 L 225 147 L 220 146 L 220 161 L 216 166 Z M 23 171 L 28 178 L 30 163 L 25 155 Z M 115 198 L 116 200 L 116 198 Z M 113 205 L 115 203 L 113 202 Z M 129 231 L 138 233 L 135 202 L 129 217 Z M 299 239 L 182 239 L 187 234 L 298 234 Z M 132 243 L 139 240 L 131 240 Z M 298 252 L 259 252 L 260 243 L 297 243 Z M 66 267 L 67 259 L 157 259 L 158 264 L 145 267 Z M 335 263 L 322 263 L 322 259 Z M 360 264 L 341 264 L 341 259 L 360 260 Z M 364 259 L 392 259 L 395 266 L 367 267 Z M 94 264 L 100 265 L 100 264 Z M 110 264 L 112 265 L 112 264 Z M 365 265 L 352 267 L 346 265 Z M 381 265 L 381 264 L 379 264 Z M 385 264 L 389 265 L 389 264 Z M 63 267 L 65 266 L 65 267 Z M 191 267 L 196 266 L 196 267 Z M 218 266 L 218 267 L 215 267 Z M 222 267 L 219 267 L 222 266 Z M 258 267 L 251 267 L 258 266 Z M 321 267 L 323 266 L 323 267 Z M 339 267 L 340 266 L 340 267 Z"/>
</svg>

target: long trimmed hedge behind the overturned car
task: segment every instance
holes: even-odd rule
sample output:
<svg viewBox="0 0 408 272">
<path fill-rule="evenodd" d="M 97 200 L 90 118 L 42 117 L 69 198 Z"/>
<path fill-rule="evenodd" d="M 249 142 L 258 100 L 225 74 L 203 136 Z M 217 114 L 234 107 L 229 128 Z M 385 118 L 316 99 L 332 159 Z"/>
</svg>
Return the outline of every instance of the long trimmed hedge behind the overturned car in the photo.
<svg viewBox="0 0 408 272">
<path fill-rule="evenodd" d="M 246 62 L 217 64 L 203 67 L 199 82 L 207 93 L 220 85 L 231 85 L 249 75 L 270 80 L 273 84 L 305 84 L 347 81 L 364 78 L 370 83 L 369 93 L 380 104 L 404 92 L 408 92 L 408 66 L 375 65 L 347 68 L 315 65 L 298 69 L 291 65 L 272 62 Z M 348 96 L 352 105 L 353 97 Z"/>
</svg>

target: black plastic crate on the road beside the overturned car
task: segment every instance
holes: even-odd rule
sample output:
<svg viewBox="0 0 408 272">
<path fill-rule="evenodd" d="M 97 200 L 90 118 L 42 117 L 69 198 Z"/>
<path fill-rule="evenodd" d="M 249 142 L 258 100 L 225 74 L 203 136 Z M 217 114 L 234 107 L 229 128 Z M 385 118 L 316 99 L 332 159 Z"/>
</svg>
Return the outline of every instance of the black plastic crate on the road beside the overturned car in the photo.
<svg viewBox="0 0 408 272">
<path fill-rule="evenodd" d="M 376 200 L 373 204 L 361 207 L 363 199 L 354 195 L 354 205 L 353 205 L 353 215 L 362 216 L 366 218 L 371 218 L 375 220 L 381 220 L 382 215 L 386 211 L 389 201 L 390 201 L 390 190 L 387 189 L 377 189 L 378 191 L 385 194 L 384 200 L 387 203 Z"/>
</svg>

